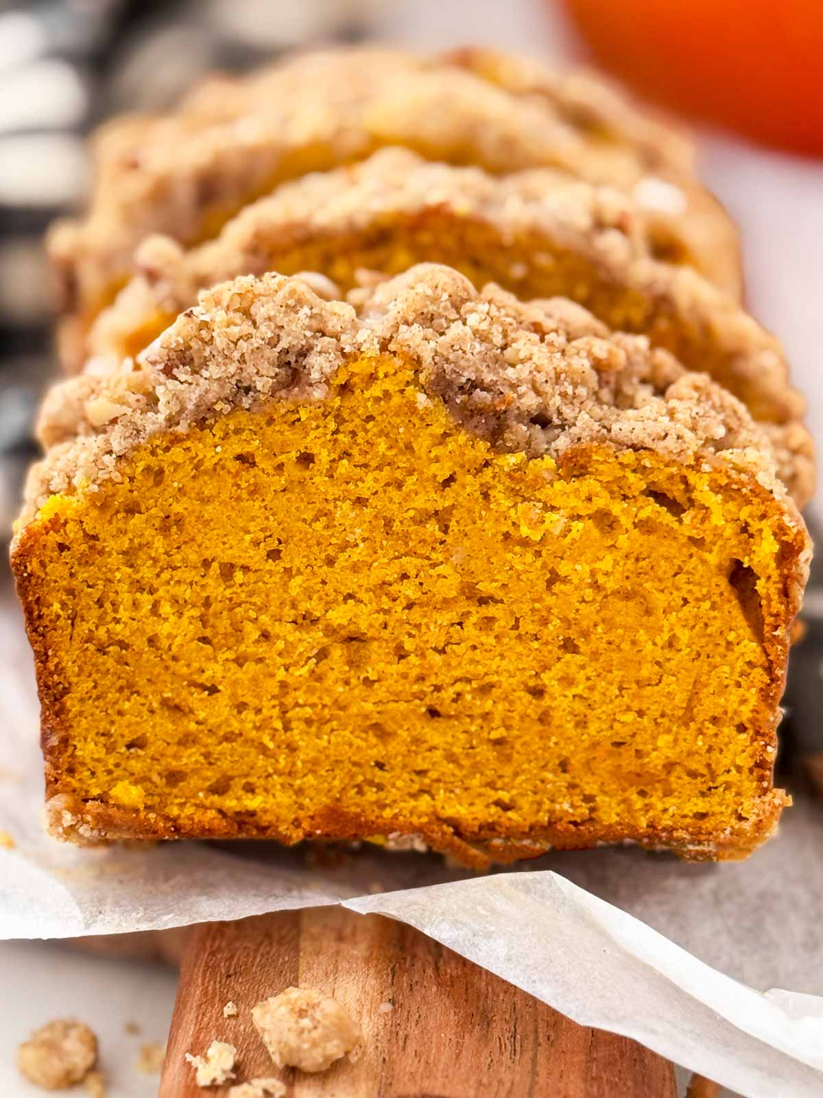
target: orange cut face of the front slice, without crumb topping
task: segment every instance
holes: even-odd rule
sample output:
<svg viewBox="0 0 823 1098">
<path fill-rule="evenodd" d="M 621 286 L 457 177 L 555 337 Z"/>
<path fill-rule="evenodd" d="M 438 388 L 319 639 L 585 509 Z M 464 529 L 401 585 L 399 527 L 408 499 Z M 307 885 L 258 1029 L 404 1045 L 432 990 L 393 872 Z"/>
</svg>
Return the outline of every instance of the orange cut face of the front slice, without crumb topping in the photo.
<svg viewBox="0 0 823 1098">
<path fill-rule="evenodd" d="M 26 523 L 47 792 L 89 836 L 737 856 L 785 800 L 803 547 L 722 461 L 500 452 L 419 363 L 348 354 Z"/>
</svg>

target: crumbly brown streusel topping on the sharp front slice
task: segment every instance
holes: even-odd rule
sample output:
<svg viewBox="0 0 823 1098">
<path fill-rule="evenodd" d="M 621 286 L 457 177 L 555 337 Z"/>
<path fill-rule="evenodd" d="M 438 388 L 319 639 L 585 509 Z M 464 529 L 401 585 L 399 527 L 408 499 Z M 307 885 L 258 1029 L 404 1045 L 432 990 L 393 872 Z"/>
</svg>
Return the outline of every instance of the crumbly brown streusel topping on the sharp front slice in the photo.
<svg viewBox="0 0 823 1098">
<path fill-rule="evenodd" d="M 568 302 L 478 292 L 450 268 L 420 265 L 358 304 L 323 301 L 296 278 L 238 278 L 202 293 L 136 362 L 59 384 L 44 402 L 49 449 L 21 523 L 53 493 L 116 475 L 117 460 L 158 433 L 272 399 L 322 400 L 348 357 L 380 354 L 415 362 L 421 396 L 497 449 L 646 448 L 725 462 L 786 495 L 770 439 L 740 401 Z"/>
</svg>

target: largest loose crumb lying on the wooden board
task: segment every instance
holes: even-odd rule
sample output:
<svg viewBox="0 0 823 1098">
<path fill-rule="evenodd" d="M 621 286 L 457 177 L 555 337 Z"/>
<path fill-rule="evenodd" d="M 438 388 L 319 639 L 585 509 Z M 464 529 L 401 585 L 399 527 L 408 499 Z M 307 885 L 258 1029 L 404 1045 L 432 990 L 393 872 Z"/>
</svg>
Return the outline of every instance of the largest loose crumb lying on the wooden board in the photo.
<svg viewBox="0 0 823 1098">
<path fill-rule="evenodd" d="M 275 1067 L 324 1072 L 362 1038 L 345 1007 L 311 987 L 288 987 L 263 999 L 251 1018 Z"/>
</svg>

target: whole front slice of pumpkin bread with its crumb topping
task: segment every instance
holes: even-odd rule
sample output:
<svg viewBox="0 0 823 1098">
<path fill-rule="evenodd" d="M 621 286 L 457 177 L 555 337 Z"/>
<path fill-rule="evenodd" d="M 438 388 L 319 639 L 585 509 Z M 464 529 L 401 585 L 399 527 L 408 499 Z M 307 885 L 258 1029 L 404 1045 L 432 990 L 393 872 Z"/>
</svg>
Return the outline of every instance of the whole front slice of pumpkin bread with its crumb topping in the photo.
<svg viewBox="0 0 823 1098">
<path fill-rule="evenodd" d="M 12 551 L 57 833 L 484 865 L 774 829 L 808 537 L 666 351 L 446 267 L 357 311 L 266 274 L 57 392 Z"/>
</svg>

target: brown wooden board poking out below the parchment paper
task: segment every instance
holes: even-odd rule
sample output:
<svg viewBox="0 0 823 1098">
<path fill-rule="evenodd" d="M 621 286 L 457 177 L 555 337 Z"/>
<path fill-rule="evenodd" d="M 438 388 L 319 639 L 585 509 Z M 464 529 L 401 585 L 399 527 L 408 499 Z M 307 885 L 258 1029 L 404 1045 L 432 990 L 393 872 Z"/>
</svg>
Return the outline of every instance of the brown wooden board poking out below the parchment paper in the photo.
<svg viewBox="0 0 823 1098">
<path fill-rule="evenodd" d="M 250 1010 L 290 985 L 360 1020 L 356 1063 L 272 1069 Z M 236 1018 L 223 1017 L 229 1000 Z M 405 923 L 340 907 L 193 929 L 159 1098 L 219 1093 L 184 1061 L 215 1039 L 236 1045 L 238 1082 L 279 1075 L 290 1098 L 676 1098 L 672 1065 L 636 1042 L 570 1021 Z"/>
</svg>

